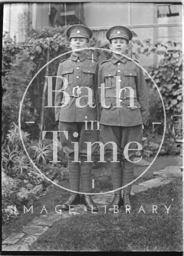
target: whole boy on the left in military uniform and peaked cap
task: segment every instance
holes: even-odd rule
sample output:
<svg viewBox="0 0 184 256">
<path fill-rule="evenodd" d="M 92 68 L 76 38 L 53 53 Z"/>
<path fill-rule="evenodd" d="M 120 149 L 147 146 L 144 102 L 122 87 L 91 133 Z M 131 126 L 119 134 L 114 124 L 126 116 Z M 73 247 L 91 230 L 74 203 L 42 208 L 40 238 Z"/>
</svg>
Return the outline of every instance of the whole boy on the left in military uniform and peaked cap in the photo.
<svg viewBox="0 0 184 256">
<path fill-rule="evenodd" d="M 90 193 L 92 187 L 91 172 L 92 163 L 87 161 L 87 144 L 85 142 L 98 141 L 98 131 L 96 123 L 91 130 L 90 120 L 97 120 L 97 71 L 98 64 L 92 60 L 85 50 L 92 31 L 83 25 L 70 26 L 66 35 L 70 40 L 72 54 L 70 58 L 62 60 L 58 67 L 55 94 L 55 118 L 59 121 L 59 131 L 67 131 L 68 138 L 64 132 L 60 132 L 60 141 L 66 154 L 68 155 L 68 170 L 70 178 L 70 189 L 76 191 L 61 208 L 68 210 L 70 205 L 82 202 L 88 210 L 97 211 L 98 208 L 90 195 L 82 194 L 80 200 L 80 178 L 82 192 Z M 59 76 L 64 77 L 62 80 Z M 65 79 L 66 78 L 66 79 Z M 65 81 L 68 81 L 67 86 Z M 86 88 L 81 88 L 86 87 Z M 88 92 L 90 89 L 90 92 Z M 79 98 L 81 97 L 81 98 Z M 89 103 L 89 101 L 91 103 Z M 87 120 L 87 122 L 85 122 Z M 87 123 L 87 129 L 86 129 Z M 78 143 L 78 156 L 76 161 L 76 148 Z M 92 154 L 96 150 L 96 145 L 92 146 Z"/>
</svg>

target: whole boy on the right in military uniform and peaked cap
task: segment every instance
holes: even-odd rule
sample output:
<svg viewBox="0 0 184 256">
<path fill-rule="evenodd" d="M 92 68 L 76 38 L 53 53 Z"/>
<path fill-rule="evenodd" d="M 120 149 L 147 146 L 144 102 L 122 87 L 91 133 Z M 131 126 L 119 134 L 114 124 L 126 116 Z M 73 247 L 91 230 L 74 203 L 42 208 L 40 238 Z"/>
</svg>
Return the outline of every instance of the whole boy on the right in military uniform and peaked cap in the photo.
<svg viewBox="0 0 184 256">
<path fill-rule="evenodd" d="M 102 62 L 98 72 L 98 86 L 105 83 L 105 104 L 100 102 L 99 97 L 100 139 L 104 144 L 115 142 L 117 145 L 117 162 L 112 161 L 112 144 L 106 145 L 111 160 L 113 189 L 116 190 L 133 180 L 133 156 L 138 148 L 137 143 L 142 142 L 142 130 L 148 116 L 148 96 L 142 69 L 121 55 L 128 49 L 132 32 L 126 27 L 114 26 L 106 32 L 106 38 L 110 41 L 110 49 L 115 52 L 110 60 Z M 117 88 L 120 88 L 119 94 Z M 131 98 L 133 105 L 130 104 Z M 126 145 L 127 155 L 124 151 Z M 108 211 L 114 211 L 114 205 L 129 205 L 127 208 L 132 210 L 130 192 L 131 185 L 123 189 L 123 198 L 121 190 L 115 191 Z"/>
</svg>

